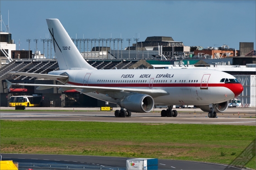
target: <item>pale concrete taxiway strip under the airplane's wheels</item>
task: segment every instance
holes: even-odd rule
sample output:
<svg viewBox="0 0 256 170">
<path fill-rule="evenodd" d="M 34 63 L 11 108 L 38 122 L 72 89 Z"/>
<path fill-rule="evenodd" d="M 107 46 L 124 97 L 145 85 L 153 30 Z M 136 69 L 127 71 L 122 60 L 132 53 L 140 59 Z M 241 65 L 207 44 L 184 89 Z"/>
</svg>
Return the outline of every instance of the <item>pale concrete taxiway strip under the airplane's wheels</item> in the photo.
<svg viewBox="0 0 256 170">
<path fill-rule="evenodd" d="M 13 111 L 5 111 L 3 109 L 13 109 Z M 37 111 L 37 109 L 46 111 Z M 117 108 L 113 110 L 115 109 Z M 129 118 L 116 118 L 114 111 L 99 111 L 99 108 L 26 108 L 26 111 L 14 110 L 14 108 L 1 108 L 0 118 L 2 120 L 256 125 L 255 108 L 228 108 L 224 113 L 217 113 L 218 118 L 208 118 L 208 113 L 203 112 L 201 109 L 176 109 L 178 111 L 176 118 L 160 117 L 161 110 L 154 109 L 154 112 L 150 113 L 132 113 Z"/>
</svg>

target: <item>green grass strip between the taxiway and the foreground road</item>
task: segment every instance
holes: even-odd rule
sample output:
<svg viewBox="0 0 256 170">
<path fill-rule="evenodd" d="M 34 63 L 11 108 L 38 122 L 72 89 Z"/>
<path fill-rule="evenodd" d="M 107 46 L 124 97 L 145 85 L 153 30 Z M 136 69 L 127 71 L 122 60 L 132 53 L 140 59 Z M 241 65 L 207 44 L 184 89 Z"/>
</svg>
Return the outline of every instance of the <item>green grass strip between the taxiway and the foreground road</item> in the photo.
<svg viewBox="0 0 256 170">
<path fill-rule="evenodd" d="M 0 120 L 2 153 L 153 157 L 229 164 L 255 126 Z M 246 167 L 256 168 L 255 159 Z"/>
</svg>

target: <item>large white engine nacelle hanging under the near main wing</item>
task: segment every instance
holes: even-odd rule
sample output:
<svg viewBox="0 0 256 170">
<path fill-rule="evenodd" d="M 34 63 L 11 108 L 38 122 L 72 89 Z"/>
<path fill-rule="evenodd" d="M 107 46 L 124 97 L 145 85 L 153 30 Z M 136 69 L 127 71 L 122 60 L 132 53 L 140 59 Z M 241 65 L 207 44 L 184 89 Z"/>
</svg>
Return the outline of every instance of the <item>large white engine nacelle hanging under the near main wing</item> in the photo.
<svg viewBox="0 0 256 170">
<path fill-rule="evenodd" d="M 154 99 L 147 94 L 133 94 L 122 99 L 119 105 L 131 112 L 145 113 L 153 109 Z"/>
</svg>

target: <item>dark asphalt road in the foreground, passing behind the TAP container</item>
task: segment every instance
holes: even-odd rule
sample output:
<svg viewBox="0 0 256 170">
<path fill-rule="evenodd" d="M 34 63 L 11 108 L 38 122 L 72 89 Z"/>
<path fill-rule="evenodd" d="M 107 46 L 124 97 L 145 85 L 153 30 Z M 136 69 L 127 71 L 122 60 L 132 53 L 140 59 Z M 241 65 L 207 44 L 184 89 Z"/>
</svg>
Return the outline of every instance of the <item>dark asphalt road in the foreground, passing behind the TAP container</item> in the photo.
<svg viewBox="0 0 256 170">
<path fill-rule="evenodd" d="M 32 163 L 94 165 L 103 168 L 126 169 L 126 157 L 111 156 L 75 156 L 75 155 L 38 155 L 38 154 L 1 154 L 3 160 L 17 162 L 32 161 Z M 100 162 L 100 163 L 99 163 Z M 228 166 L 192 161 L 158 160 L 159 170 L 224 170 Z M 228 170 L 241 170 L 229 167 Z"/>
</svg>

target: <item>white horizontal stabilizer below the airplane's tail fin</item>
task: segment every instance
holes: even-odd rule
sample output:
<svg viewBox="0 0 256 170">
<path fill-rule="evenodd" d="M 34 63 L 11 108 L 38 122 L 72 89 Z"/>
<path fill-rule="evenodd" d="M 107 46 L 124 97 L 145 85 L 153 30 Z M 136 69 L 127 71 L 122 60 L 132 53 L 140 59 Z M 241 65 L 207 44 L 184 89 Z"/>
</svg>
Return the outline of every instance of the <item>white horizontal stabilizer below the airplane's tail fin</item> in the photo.
<svg viewBox="0 0 256 170">
<path fill-rule="evenodd" d="M 41 79 L 50 79 L 50 80 L 67 79 L 68 78 L 68 76 L 37 74 L 37 73 L 24 73 L 24 72 L 18 72 L 18 71 L 10 71 L 8 74 L 29 76 L 29 77 L 38 77 Z"/>
</svg>

